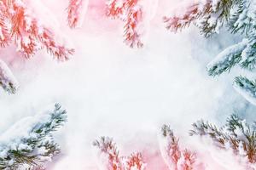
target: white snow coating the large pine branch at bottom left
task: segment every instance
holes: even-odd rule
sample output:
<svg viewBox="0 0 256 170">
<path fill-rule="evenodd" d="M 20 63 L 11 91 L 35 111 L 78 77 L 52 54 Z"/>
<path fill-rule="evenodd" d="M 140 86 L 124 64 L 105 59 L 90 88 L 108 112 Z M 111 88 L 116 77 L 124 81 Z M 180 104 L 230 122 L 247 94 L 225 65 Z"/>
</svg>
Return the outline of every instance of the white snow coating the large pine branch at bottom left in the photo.
<svg viewBox="0 0 256 170">
<path fill-rule="evenodd" d="M 36 162 L 38 165 L 41 165 L 40 163 L 44 161 L 51 161 L 51 157 L 56 154 L 59 146 L 53 141 L 52 132 L 44 133 L 44 130 L 47 130 L 47 128 L 49 130 L 53 129 L 52 126 L 55 126 L 55 124 L 49 122 L 59 121 L 56 118 L 60 116 L 59 114 L 62 116 L 62 113 L 63 110 L 60 110 L 59 105 L 55 105 L 55 110 L 23 118 L 9 127 L 0 136 L 0 155 L 3 156 L 1 157 L 1 166 L 6 167 L 6 169 L 9 168 L 7 166 L 12 164 L 18 167 L 23 166 L 22 158 L 20 158 L 20 161 L 10 150 L 24 152 L 26 156 L 35 156 L 31 162 Z M 42 133 L 38 133 L 38 129 L 41 129 Z M 40 139 L 40 141 L 34 144 L 28 142 L 35 139 Z M 55 152 L 51 150 L 55 150 Z"/>
</svg>

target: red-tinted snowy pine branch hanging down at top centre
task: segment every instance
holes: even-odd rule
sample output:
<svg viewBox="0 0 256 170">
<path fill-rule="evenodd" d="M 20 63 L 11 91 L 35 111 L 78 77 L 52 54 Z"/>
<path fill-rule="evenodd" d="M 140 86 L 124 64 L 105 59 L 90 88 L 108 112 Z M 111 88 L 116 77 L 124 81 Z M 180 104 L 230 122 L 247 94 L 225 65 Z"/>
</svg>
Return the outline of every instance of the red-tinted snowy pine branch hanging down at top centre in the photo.
<svg viewBox="0 0 256 170">
<path fill-rule="evenodd" d="M 141 0 L 108 0 L 107 15 L 124 21 L 124 42 L 131 48 L 142 48 L 143 7 Z"/>
</svg>

